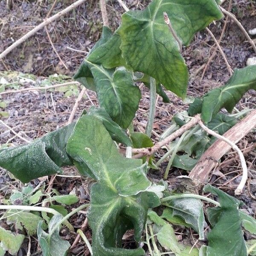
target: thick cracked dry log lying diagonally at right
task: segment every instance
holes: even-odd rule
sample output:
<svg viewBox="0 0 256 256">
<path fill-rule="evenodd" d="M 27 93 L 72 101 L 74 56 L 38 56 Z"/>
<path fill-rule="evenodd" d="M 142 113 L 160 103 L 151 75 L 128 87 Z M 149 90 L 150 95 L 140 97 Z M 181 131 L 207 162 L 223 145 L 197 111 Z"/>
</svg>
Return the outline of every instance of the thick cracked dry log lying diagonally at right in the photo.
<svg viewBox="0 0 256 256">
<path fill-rule="evenodd" d="M 256 110 L 252 111 L 233 128 L 227 131 L 223 136 L 234 143 L 238 143 L 245 135 L 247 135 L 253 128 L 256 127 Z M 213 143 L 192 169 L 189 177 L 193 180 L 207 182 L 209 174 L 215 167 L 216 162 L 221 159 L 229 150 L 231 146 L 222 140 L 217 140 Z"/>
</svg>

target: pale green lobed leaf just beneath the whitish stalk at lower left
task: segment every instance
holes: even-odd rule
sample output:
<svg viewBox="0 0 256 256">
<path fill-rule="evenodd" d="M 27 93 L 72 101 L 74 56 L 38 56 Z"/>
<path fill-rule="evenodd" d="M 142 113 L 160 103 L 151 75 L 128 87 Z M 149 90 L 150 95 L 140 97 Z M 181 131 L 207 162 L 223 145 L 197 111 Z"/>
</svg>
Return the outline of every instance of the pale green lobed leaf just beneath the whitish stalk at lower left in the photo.
<svg viewBox="0 0 256 256">
<path fill-rule="evenodd" d="M 15 226 L 23 230 L 23 227 L 26 229 L 29 236 L 36 234 L 38 222 L 43 219 L 31 212 L 24 212 L 19 210 L 9 210 L 6 212 L 5 217 L 7 218 L 8 223 L 15 223 Z M 47 228 L 46 224 L 43 222 L 42 227 Z"/>
</svg>

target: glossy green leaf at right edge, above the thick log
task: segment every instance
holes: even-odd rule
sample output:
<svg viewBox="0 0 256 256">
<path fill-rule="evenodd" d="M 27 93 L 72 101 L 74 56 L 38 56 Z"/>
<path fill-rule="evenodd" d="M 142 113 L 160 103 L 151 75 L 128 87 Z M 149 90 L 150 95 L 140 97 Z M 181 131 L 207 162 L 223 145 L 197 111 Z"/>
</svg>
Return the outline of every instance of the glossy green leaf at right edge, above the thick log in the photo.
<svg viewBox="0 0 256 256">
<path fill-rule="evenodd" d="M 201 100 L 192 103 L 190 113 L 202 113 L 202 119 L 208 123 L 221 108 L 231 112 L 248 90 L 256 90 L 256 66 L 236 69 L 226 85 L 209 91 Z"/>
</svg>

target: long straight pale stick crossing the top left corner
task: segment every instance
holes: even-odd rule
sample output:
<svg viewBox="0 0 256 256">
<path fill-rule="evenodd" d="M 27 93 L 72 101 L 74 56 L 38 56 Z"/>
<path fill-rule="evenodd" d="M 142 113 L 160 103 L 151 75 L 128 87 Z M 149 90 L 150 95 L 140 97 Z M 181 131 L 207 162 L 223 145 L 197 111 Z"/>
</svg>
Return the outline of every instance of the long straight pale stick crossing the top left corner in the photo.
<svg viewBox="0 0 256 256">
<path fill-rule="evenodd" d="M 72 5 L 68 6 L 67 8 L 65 8 L 64 10 L 62 10 L 61 12 L 56 13 L 55 15 L 53 15 L 52 17 L 50 17 L 49 19 L 44 20 L 44 22 L 42 22 L 41 24 L 39 24 L 38 26 L 36 26 L 34 29 L 32 29 L 31 31 L 29 31 L 26 35 L 23 35 L 23 37 L 21 37 L 19 40 L 17 40 L 15 43 L 13 43 L 11 46 L 9 46 L 7 49 L 5 49 L 1 54 L 0 54 L 0 59 L 4 58 L 9 52 L 11 52 L 13 49 L 15 49 L 17 46 L 19 46 L 20 44 L 22 44 L 23 42 L 25 42 L 28 38 L 30 38 L 32 35 L 34 35 L 36 32 L 38 32 L 40 29 L 44 28 L 45 26 L 47 26 L 48 24 L 52 23 L 54 20 L 57 20 L 59 17 L 61 17 L 62 15 L 65 15 L 67 12 L 72 11 L 73 9 L 75 9 L 77 6 L 79 6 L 81 3 L 84 3 L 86 0 L 78 0 L 75 3 L 73 3 Z"/>
</svg>

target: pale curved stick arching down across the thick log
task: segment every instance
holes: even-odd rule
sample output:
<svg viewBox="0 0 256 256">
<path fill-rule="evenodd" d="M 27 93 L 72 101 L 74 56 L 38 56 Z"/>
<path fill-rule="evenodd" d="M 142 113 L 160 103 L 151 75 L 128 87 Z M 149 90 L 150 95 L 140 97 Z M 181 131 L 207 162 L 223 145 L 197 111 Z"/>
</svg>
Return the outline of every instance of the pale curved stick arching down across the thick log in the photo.
<svg viewBox="0 0 256 256">
<path fill-rule="evenodd" d="M 245 161 L 245 158 L 244 158 L 244 155 L 243 155 L 242 151 L 239 149 L 239 147 L 235 143 L 233 143 L 233 141 L 227 139 L 224 136 L 221 136 L 220 134 L 217 134 L 215 131 L 212 131 L 211 129 L 206 127 L 201 120 L 199 121 L 198 124 L 208 134 L 211 134 L 214 137 L 216 137 L 216 138 L 218 138 L 220 140 L 223 140 L 224 142 L 229 144 L 231 146 L 231 148 L 233 148 L 239 154 L 239 158 L 241 160 L 241 166 L 242 166 L 242 169 L 243 169 L 243 175 L 242 175 L 241 182 L 240 182 L 239 186 L 237 187 L 237 189 L 235 191 L 235 195 L 241 195 L 241 193 L 242 193 L 242 191 L 244 189 L 244 186 L 245 186 L 245 184 L 247 182 L 247 178 L 248 178 L 248 169 L 247 169 L 246 161 Z"/>
</svg>

